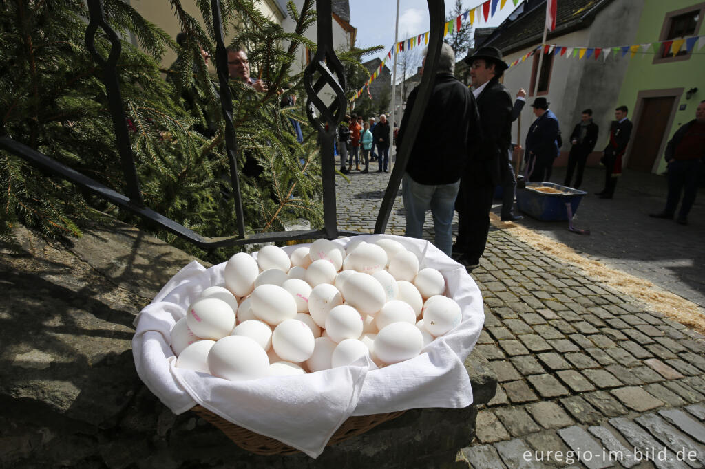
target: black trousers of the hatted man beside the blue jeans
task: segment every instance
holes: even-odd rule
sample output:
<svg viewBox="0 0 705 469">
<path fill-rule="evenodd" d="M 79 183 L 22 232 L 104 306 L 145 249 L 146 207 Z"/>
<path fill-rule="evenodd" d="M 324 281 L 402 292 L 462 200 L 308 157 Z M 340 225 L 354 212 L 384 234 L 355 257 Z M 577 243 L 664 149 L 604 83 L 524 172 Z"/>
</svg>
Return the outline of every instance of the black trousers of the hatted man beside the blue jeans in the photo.
<svg viewBox="0 0 705 469">
<path fill-rule="evenodd" d="M 491 181 L 477 182 L 470 177 L 460 180 L 460 192 L 455 201 L 455 210 L 458 211 L 455 244 L 472 261 L 479 261 L 484 253 L 493 195 L 494 184 Z"/>
</svg>

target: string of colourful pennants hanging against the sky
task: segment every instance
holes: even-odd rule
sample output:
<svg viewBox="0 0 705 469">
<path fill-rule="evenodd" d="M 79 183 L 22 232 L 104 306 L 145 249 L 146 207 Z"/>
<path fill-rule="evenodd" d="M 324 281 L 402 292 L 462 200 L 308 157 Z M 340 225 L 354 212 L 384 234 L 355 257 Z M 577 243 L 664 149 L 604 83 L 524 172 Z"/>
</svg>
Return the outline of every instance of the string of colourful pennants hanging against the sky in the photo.
<svg viewBox="0 0 705 469">
<path fill-rule="evenodd" d="M 457 17 L 446 21 L 446 23 L 443 25 L 443 37 L 446 37 L 449 34 L 453 34 L 453 32 L 460 31 L 464 23 L 470 23 L 470 25 L 474 25 L 475 23 L 481 23 L 483 20 L 484 23 L 487 23 L 489 18 L 494 17 L 497 11 L 501 11 L 507 3 L 508 0 L 487 0 L 484 1 L 482 4 L 479 4 L 478 6 L 474 6 L 473 8 L 468 9 Z M 519 0 L 512 0 L 512 4 L 514 6 L 517 6 L 517 3 L 519 3 Z M 385 56 L 384 60 L 379 64 L 379 67 L 374 70 L 367 82 L 362 85 L 362 88 L 360 88 L 355 94 L 353 94 L 353 97 L 350 98 L 350 102 L 353 102 L 360 96 L 362 96 L 365 87 L 369 87 L 370 83 L 374 82 L 374 80 L 379 77 L 379 74 L 382 72 L 382 70 L 384 70 L 384 65 L 386 61 L 391 60 L 394 54 L 400 54 L 401 52 L 410 51 L 415 47 L 422 45 L 425 46 L 427 44 L 429 44 L 429 31 L 417 36 L 407 37 L 407 39 L 393 44 L 393 46 L 391 46 L 391 49 L 389 49 L 389 51 L 387 52 L 387 55 Z M 369 93 L 369 88 L 367 92 Z"/>
</svg>

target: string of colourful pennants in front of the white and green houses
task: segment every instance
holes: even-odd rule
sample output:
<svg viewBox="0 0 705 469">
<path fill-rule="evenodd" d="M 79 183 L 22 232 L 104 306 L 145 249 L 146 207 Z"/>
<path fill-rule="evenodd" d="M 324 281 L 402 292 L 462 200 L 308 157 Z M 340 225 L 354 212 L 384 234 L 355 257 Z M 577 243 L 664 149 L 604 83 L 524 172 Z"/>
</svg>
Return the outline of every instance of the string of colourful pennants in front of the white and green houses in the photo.
<svg viewBox="0 0 705 469">
<path fill-rule="evenodd" d="M 541 49 L 543 49 L 544 55 L 553 54 L 554 56 L 565 58 L 577 57 L 578 60 L 592 57 L 594 60 L 602 58 L 603 61 L 607 61 L 607 57 L 610 55 L 614 58 L 622 58 L 625 55 L 630 54 L 630 58 L 632 58 L 637 55 L 639 51 L 641 51 L 642 56 L 645 56 L 646 54 L 663 54 L 664 57 L 668 55 L 676 56 L 684 49 L 689 54 L 693 51 L 696 44 L 698 51 L 702 49 L 703 46 L 705 46 L 705 36 L 692 36 L 681 39 L 669 39 L 668 41 L 646 42 L 645 44 L 632 44 L 630 46 L 613 47 L 575 47 L 558 46 L 556 44 L 541 44 L 510 63 L 509 68 L 519 65 Z M 661 46 L 663 46 L 663 49 Z"/>
</svg>

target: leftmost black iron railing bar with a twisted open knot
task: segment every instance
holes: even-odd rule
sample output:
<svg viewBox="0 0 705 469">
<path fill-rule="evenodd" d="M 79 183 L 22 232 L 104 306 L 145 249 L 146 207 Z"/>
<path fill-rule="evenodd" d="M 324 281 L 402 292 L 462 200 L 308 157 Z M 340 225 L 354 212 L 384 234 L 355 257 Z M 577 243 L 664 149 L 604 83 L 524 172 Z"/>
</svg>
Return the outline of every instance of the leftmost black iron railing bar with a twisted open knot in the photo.
<svg viewBox="0 0 705 469">
<path fill-rule="evenodd" d="M 127 116 L 125 115 L 125 110 L 123 108 L 123 99 L 120 92 L 120 80 L 118 80 L 118 71 L 116 68 L 118 58 L 120 58 L 122 46 L 115 31 L 112 30 L 110 25 L 105 22 L 105 18 L 103 16 L 103 6 L 100 3 L 100 0 L 87 0 L 87 4 L 88 13 L 90 15 L 90 23 L 86 28 L 86 46 L 94 60 L 99 63 L 103 70 L 103 82 L 105 84 L 110 114 L 113 119 L 116 145 L 118 147 L 118 151 L 120 152 L 120 160 L 123 167 L 123 175 L 125 176 L 125 184 L 127 185 L 127 193 L 133 204 L 144 206 L 145 201 L 142 199 L 140 180 L 137 178 L 137 168 L 135 167 L 135 158 L 133 156 L 132 146 L 130 145 Z M 95 49 L 94 40 L 98 27 L 105 32 L 110 40 L 110 55 L 107 60 L 102 58 Z"/>
</svg>

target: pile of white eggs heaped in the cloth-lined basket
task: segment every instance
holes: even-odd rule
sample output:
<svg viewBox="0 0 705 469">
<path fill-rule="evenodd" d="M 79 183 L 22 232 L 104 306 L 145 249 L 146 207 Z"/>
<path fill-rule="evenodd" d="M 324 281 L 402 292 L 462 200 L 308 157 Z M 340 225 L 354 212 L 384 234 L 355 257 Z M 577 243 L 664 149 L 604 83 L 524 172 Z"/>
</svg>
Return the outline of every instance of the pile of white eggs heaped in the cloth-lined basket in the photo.
<svg viewBox="0 0 705 469">
<path fill-rule="evenodd" d="M 393 239 L 327 239 L 290 255 L 264 246 L 238 253 L 225 285 L 204 289 L 171 330 L 176 366 L 228 380 L 300 375 L 413 358 L 453 330 L 460 306 L 436 269 Z"/>
</svg>

